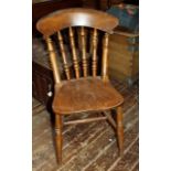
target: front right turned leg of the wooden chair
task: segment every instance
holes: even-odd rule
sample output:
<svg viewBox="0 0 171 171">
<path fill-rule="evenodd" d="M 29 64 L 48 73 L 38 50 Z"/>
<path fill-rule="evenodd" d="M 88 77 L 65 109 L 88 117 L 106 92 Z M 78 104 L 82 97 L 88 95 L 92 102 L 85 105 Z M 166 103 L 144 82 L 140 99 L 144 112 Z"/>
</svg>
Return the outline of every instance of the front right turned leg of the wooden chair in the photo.
<svg viewBox="0 0 171 171">
<path fill-rule="evenodd" d="M 120 156 L 124 152 L 124 128 L 122 128 L 122 108 L 118 106 L 117 110 L 117 136 L 118 136 L 118 146 Z"/>
</svg>

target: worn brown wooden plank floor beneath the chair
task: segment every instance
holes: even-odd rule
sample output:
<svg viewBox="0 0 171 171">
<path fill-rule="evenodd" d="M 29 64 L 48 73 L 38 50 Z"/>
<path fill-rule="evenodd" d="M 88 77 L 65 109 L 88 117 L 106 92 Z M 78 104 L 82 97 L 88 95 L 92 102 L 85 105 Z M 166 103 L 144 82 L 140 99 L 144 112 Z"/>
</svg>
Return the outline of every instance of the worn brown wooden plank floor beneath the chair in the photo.
<svg viewBox="0 0 171 171">
<path fill-rule="evenodd" d="M 124 156 L 118 157 L 115 132 L 106 121 L 67 126 L 63 131 L 63 164 L 57 165 L 51 115 L 33 98 L 33 171 L 139 170 L 138 86 L 128 88 L 117 82 L 115 86 L 125 97 Z"/>
</svg>

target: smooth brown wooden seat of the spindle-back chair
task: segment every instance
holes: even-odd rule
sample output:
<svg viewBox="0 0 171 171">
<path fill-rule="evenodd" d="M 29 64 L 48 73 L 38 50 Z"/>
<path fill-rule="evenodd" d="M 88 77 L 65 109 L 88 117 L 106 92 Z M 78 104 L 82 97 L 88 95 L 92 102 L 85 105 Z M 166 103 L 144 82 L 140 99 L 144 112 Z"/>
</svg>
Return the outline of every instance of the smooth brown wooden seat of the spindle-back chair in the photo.
<svg viewBox="0 0 171 171">
<path fill-rule="evenodd" d="M 55 90 L 53 109 L 58 114 L 106 110 L 124 101 L 111 84 L 104 83 L 99 77 L 63 82 Z"/>
</svg>

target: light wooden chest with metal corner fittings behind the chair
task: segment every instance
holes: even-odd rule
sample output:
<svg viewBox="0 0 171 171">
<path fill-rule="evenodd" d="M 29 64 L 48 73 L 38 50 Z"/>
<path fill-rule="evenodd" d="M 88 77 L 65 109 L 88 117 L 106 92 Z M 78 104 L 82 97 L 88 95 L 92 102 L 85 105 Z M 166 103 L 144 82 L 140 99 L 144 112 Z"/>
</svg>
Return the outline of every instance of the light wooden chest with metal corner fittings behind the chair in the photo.
<svg viewBox="0 0 171 171">
<path fill-rule="evenodd" d="M 109 77 L 132 85 L 139 75 L 139 34 L 115 31 L 109 41 Z"/>
</svg>

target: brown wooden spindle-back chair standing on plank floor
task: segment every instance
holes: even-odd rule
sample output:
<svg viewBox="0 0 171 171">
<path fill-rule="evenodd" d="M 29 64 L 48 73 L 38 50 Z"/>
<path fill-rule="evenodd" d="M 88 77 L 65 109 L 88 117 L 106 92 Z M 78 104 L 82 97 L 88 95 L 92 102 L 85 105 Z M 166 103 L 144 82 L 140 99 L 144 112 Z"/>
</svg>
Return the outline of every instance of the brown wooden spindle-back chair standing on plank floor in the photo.
<svg viewBox="0 0 171 171">
<path fill-rule="evenodd" d="M 122 96 L 111 86 L 108 78 L 108 38 L 113 30 L 118 25 L 117 18 L 109 15 L 101 11 L 93 9 L 73 8 L 53 12 L 39 20 L 36 28 L 44 35 L 50 54 L 50 61 L 54 74 L 54 100 L 53 110 L 55 113 L 55 130 L 56 130 L 56 148 L 57 160 L 62 162 L 62 146 L 63 137 L 62 129 L 64 125 L 83 124 L 89 121 L 108 120 L 117 130 L 118 146 L 120 154 L 122 153 L 124 129 L 122 129 L 122 111 L 121 104 Z M 79 43 L 82 46 L 82 65 L 79 66 L 78 56 L 76 52 L 76 40 L 74 35 L 75 26 L 81 26 Z M 64 40 L 62 30 L 68 28 L 68 38 L 74 64 L 75 78 L 71 76 L 68 63 L 65 53 Z M 88 75 L 87 63 L 87 44 L 85 41 L 85 29 L 93 30 L 92 38 L 92 67 L 90 75 Z M 101 74 L 98 76 L 97 65 L 97 39 L 98 32 L 104 32 L 103 52 L 101 52 Z M 56 63 L 55 45 L 52 41 L 52 35 L 58 41 L 61 55 L 63 58 L 64 71 L 66 79 L 62 81 L 60 76 L 58 65 Z M 83 71 L 83 72 L 81 72 Z M 111 117 L 111 110 L 116 109 L 116 122 Z M 71 121 L 63 121 L 63 116 L 79 114 L 83 111 L 100 111 L 104 115 L 98 117 L 90 117 L 86 119 L 77 119 Z"/>
</svg>

